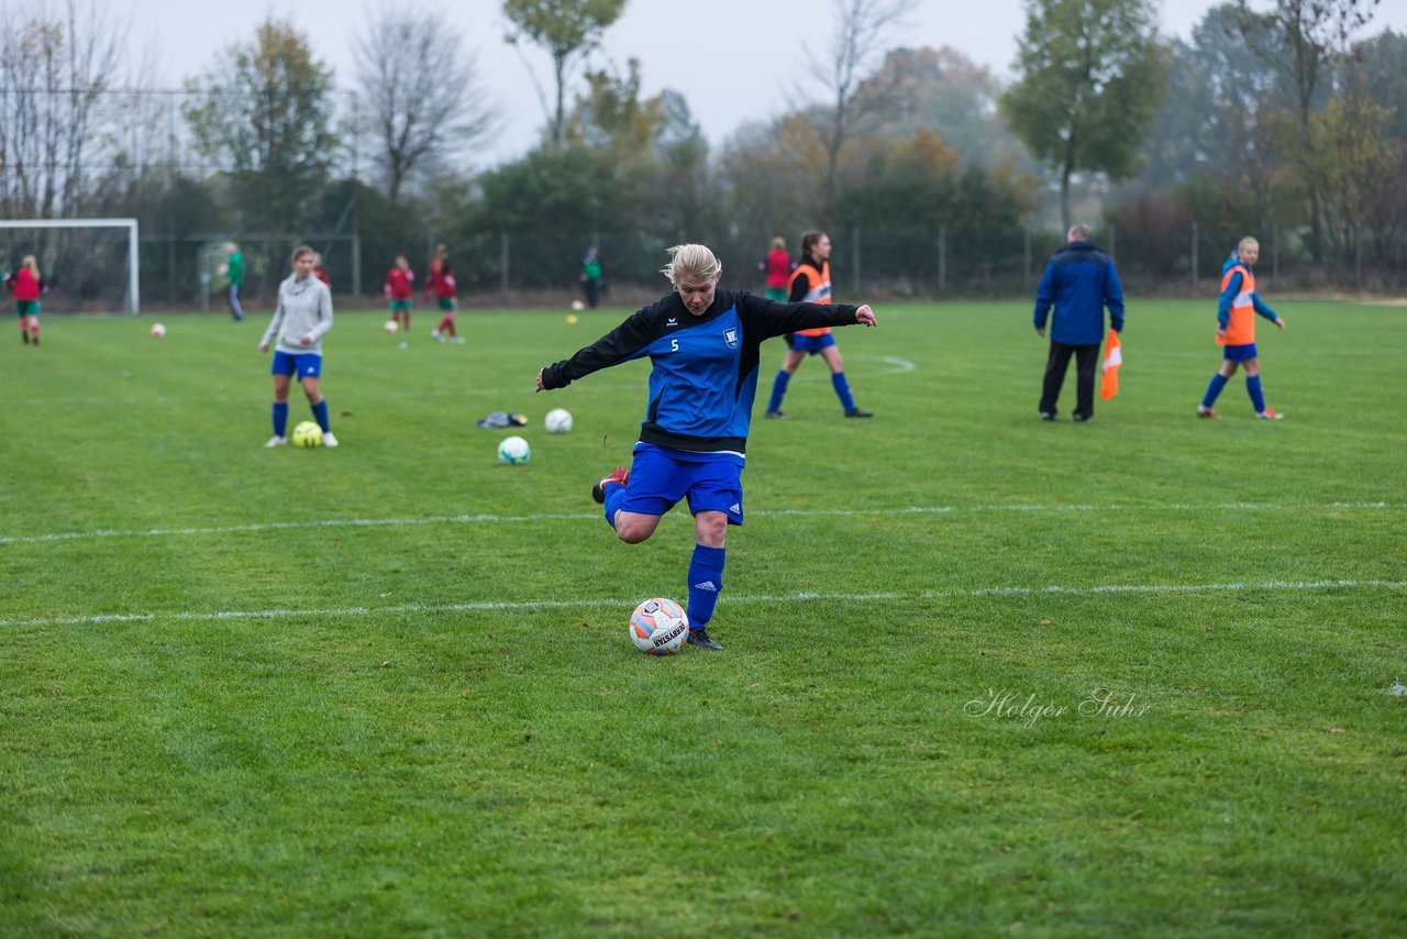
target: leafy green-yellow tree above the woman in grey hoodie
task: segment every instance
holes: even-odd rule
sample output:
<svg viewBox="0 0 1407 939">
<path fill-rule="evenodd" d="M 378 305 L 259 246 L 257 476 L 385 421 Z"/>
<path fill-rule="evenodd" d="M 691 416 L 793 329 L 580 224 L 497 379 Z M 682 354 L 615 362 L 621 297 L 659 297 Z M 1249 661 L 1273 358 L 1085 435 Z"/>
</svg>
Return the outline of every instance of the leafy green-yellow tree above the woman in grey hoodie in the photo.
<svg viewBox="0 0 1407 939">
<path fill-rule="evenodd" d="M 224 51 L 187 82 L 196 149 L 222 168 L 245 225 L 280 235 L 304 227 L 338 152 L 332 70 L 290 21 L 260 23 L 255 39 Z"/>
</svg>

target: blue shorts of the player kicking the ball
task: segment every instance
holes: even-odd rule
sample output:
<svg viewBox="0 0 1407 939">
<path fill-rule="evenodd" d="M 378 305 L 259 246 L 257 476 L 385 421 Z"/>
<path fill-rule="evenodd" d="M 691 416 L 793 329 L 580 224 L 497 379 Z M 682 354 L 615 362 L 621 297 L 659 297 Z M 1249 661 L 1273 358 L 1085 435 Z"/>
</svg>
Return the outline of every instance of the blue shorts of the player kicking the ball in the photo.
<svg viewBox="0 0 1407 939">
<path fill-rule="evenodd" d="M 689 500 L 691 515 L 723 512 L 729 525 L 741 525 L 741 458 L 636 443 L 630 483 L 625 487 L 620 508 L 643 515 L 663 515 L 685 497 Z"/>
</svg>

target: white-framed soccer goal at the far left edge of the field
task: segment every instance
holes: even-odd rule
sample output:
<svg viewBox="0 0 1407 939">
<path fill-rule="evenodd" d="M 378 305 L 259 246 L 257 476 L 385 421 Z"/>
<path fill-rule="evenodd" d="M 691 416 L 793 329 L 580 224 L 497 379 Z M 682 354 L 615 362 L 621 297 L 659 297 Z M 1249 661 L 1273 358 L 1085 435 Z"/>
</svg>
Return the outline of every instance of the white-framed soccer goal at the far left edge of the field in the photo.
<svg viewBox="0 0 1407 939">
<path fill-rule="evenodd" d="M 0 266 L 15 270 L 25 255 L 39 262 L 49 289 L 45 313 L 141 310 L 135 218 L 31 218 L 0 221 Z"/>
</svg>

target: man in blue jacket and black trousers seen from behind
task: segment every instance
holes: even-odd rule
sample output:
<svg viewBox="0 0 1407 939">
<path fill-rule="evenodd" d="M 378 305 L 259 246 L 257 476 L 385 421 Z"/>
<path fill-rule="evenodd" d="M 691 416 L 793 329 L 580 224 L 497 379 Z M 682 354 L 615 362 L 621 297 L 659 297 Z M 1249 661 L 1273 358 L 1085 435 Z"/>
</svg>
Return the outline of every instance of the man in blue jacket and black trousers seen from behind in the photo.
<svg viewBox="0 0 1407 939">
<path fill-rule="evenodd" d="M 1055 401 L 1069 356 L 1076 360 L 1075 421 L 1095 417 L 1095 366 L 1099 344 L 1104 338 L 1104 307 L 1114 332 L 1124 331 L 1124 289 L 1114 262 L 1095 248 L 1089 225 L 1072 225 L 1064 251 L 1045 265 L 1036 289 L 1036 335 L 1045 336 L 1045 318 L 1055 305 L 1051 324 L 1051 353 L 1045 359 L 1045 384 L 1041 389 L 1041 420 L 1054 421 L 1059 411 Z"/>
</svg>

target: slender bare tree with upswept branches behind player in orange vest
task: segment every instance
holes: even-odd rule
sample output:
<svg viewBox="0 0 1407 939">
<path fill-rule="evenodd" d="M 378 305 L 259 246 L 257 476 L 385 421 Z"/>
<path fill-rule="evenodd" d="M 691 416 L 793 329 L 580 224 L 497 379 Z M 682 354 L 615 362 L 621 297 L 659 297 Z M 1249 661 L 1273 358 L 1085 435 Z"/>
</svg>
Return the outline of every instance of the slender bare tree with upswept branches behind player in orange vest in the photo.
<svg viewBox="0 0 1407 939">
<path fill-rule="evenodd" d="M 834 0 L 836 24 L 830 45 L 806 49 L 808 70 L 827 92 L 822 111 L 826 139 L 826 200 L 834 206 L 840 184 L 840 151 L 864 118 L 857 92 L 865 69 L 908 21 L 915 0 Z"/>
</svg>

